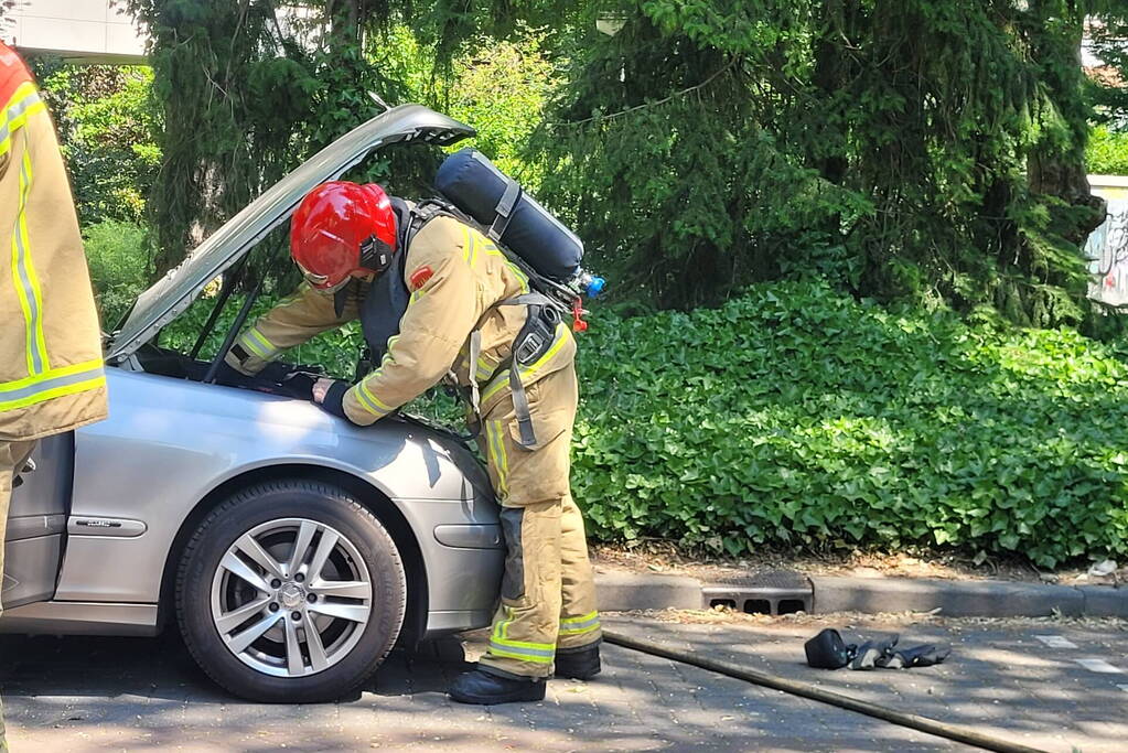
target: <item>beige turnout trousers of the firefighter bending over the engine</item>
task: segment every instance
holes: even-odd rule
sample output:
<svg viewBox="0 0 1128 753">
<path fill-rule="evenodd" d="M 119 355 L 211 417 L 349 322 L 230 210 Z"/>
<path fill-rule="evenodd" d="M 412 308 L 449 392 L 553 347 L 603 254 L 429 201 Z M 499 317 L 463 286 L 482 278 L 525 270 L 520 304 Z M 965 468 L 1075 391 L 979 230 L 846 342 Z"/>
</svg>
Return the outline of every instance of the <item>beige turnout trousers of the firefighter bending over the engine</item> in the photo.
<svg viewBox="0 0 1128 753">
<path fill-rule="evenodd" d="M 511 397 L 482 420 L 506 552 L 501 605 L 478 666 L 501 676 L 547 677 L 556 654 L 591 648 L 601 634 L 583 519 L 569 485 L 575 366 L 567 363 L 526 393 L 532 448 L 518 441 Z"/>
</svg>

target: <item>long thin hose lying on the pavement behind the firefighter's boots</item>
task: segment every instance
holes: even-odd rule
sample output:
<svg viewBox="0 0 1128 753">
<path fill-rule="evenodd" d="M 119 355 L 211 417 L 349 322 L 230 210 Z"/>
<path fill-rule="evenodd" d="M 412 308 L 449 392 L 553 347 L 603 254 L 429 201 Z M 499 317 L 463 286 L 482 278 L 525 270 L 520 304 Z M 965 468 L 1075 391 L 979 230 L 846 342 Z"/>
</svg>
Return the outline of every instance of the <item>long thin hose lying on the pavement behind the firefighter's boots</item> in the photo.
<svg viewBox="0 0 1128 753">
<path fill-rule="evenodd" d="M 1011 743 L 989 735 L 982 735 L 966 727 L 944 724 L 943 721 L 917 716 L 916 714 L 905 714 L 904 711 L 898 711 L 884 706 L 876 706 L 867 701 L 851 698 L 849 696 L 843 696 L 841 693 L 823 690 L 822 688 L 810 683 L 787 680 L 786 677 L 779 677 L 766 672 L 757 672 L 756 670 L 746 670 L 744 667 L 730 662 L 717 662 L 715 659 L 705 658 L 704 656 L 698 656 L 691 652 L 679 650 L 667 646 L 666 644 L 646 640 L 644 638 L 625 636 L 618 631 L 605 629 L 603 640 L 616 646 L 623 646 L 624 648 L 631 648 L 644 654 L 651 654 L 652 656 L 661 656 L 662 658 L 681 662 L 682 664 L 690 664 L 703 670 L 708 670 L 710 672 L 716 672 L 730 677 L 735 677 L 737 680 L 743 680 L 744 682 L 750 682 L 756 685 L 763 685 L 773 690 L 782 690 L 783 692 L 792 696 L 800 696 L 802 698 L 809 698 L 812 701 L 837 706 L 840 709 L 857 711 L 858 714 L 864 714 L 869 717 L 874 717 L 875 719 L 900 725 L 901 727 L 908 727 L 910 729 L 928 733 L 929 735 L 937 735 L 958 743 L 966 743 L 967 745 L 975 745 L 976 747 L 981 747 L 984 750 L 998 751 L 999 753 L 1045 753 L 1045 751 L 1037 747 L 1019 745 L 1016 743 Z"/>
</svg>

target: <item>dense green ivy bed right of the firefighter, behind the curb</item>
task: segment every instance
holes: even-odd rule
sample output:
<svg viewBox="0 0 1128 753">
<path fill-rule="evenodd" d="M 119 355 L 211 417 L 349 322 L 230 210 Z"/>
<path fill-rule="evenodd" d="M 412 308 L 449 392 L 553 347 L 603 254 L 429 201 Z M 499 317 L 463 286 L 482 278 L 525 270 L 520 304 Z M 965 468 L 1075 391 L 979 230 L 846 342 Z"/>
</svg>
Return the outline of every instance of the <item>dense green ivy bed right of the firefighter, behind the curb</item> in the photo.
<svg viewBox="0 0 1128 753">
<path fill-rule="evenodd" d="M 597 312 L 573 490 L 591 533 L 737 556 L 1128 553 L 1128 367 L 1070 329 L 890 310 L 822 283 Z"/>
</svg>

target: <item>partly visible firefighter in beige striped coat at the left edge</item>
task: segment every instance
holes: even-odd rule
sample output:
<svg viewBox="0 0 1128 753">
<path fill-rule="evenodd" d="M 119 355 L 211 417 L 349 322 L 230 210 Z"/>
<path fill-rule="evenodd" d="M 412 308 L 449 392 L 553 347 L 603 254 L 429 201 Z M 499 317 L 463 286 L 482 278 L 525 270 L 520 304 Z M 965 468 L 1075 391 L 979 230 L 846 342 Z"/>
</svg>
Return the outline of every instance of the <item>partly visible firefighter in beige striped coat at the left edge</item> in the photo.
<svg viewBox="0 0 1128 753">
<path fill-rule="evenodd" d="M 0 42 L 0 574 L 12 486 L 36 440 L 106 416 L 98 315 L 55 131 Z M 0 603 L 0 609 L 3 604 Z M 6 751 L 0 708 L 0 751 Z"/>
</svg>

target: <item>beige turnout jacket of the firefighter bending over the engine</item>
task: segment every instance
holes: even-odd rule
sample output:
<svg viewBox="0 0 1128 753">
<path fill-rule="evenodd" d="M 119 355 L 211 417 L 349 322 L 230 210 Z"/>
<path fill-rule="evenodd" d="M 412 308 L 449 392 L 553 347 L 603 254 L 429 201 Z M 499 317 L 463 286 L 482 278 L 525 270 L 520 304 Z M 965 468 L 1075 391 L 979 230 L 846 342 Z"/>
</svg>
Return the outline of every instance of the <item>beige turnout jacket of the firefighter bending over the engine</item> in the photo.
<svg viewBox="0 0 1128 753">
<path fill-rule="evenodd" d="M 449 372 L 459 384 L 469 386 L 473 380 L 479 387 L 482 414 L 490 414 L 510 395 L 509 370 L 500 366 L 509 358 L 527 312 L 523 305 L 502 302 L 528 293 L 528 278 L 485 236 L 450 216 L 428 222 L 402 253 L 407 254 L 411 303 L 382 363 L 345 395 L 345 414 L 355 424 L 371 424 Z M 355 281 L 351 285 L 340 318 L 332 294 L 303 285 L 239 337 L 237 344 L 248 357 L 240 361 L 228 353 L 227 363 L 245 374 L 257 373 L 285 348 L 355 319 L 369 284 Z M 481 333 L 481 353 L 477 363 L 470 364 L 474 331 Z M 521 367 L 522 384 L 569 366 L 574 355 L 575 340 L 561 324 L 545 354 Z"/>
</svg>

